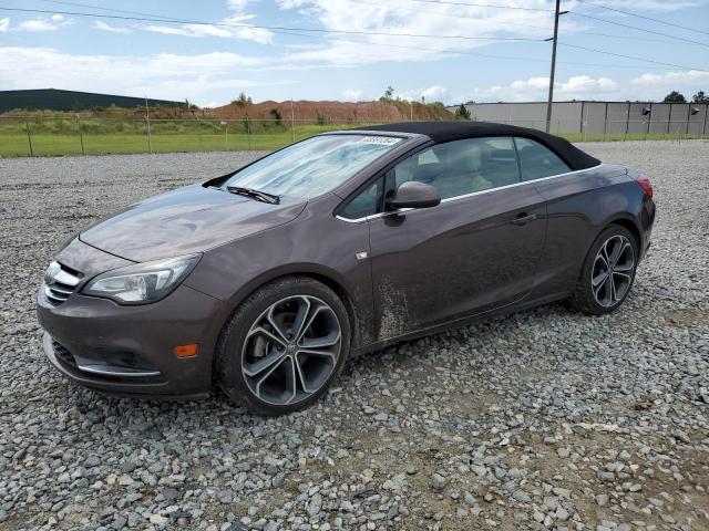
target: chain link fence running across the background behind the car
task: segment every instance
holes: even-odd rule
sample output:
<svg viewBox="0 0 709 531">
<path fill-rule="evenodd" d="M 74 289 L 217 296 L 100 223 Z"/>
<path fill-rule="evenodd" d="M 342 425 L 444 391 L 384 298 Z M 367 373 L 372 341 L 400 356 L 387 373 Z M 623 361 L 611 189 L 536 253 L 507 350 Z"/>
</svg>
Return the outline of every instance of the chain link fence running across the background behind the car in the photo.
<svg viewBox="0 0 709 531">
<path fill-rule="evenodd" d="M 542 119 L 501 121 L 544 129 Z M 386 123 L 384 121 L 377 123 Z M 0 156 L 273 150 L 308 136 L 371 125 L 351 121 L 0 116 Z M 688 121 L 552 121 L 571 142 L 709 138 Z"/>
</svg>

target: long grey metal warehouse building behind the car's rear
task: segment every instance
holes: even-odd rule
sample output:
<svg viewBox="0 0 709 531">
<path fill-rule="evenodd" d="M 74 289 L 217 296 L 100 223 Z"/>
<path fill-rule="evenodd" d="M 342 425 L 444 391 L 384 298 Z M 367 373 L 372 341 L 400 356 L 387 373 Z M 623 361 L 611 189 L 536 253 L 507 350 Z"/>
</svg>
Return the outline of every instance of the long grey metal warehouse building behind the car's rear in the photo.
<svg viewBox="0 0 709 531">
<path fill-rule="evenodd" d="M 455 106 L 449 107 L 455 112 Z M 546 102 L 472 103 L 471 119 L 544 129 Z M 699 103 L 555 102 L 552 133 L 707 135 L 709 105 Z"/>
</svg>

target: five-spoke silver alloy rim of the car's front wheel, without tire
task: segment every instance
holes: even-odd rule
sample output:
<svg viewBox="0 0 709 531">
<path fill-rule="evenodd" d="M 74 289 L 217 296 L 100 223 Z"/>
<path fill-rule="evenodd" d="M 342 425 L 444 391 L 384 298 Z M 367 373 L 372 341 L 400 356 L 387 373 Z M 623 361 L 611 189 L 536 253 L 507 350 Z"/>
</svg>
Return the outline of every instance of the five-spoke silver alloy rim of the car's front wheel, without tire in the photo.
<svg viewBox="0 0 709 531">
<path fill-rule="evenodd" d="M 251 324 L 242 350 L 242 374 L 260 400 L 298 404 L 332 375 L 340 340 L 340 323 L 326 302 L 310 295 L 281 299 Z"/>
</svg>

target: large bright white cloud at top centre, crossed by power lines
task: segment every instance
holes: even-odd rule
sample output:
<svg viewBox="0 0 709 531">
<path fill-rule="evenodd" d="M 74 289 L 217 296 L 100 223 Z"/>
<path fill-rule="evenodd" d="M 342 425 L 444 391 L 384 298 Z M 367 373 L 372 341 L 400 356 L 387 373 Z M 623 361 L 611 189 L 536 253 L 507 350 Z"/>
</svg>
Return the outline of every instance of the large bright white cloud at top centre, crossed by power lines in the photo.
<svg viewBox="0 0 709 531">
<path fill-rule="evenodd" d="M 277 0 L 282 11 L 298 11 L 301 17 L 319 21 L 322 28 L 331 31 L 493 39 L 548 37 L 548 28 L 552 24 L 549 12 L 465 7 L 459 3 L 452 6 L 376 0 Z M 525 6 L 527 4 L 548 8 L 546 0 L 528 0 L 525 2 Z M 566 32 L 579 29 L 582 25 L 574 20 L 565 21 Z M 469 51 L 490 43 L 487 40 L 474 39 L 369 34 L 333 34 L 323 39 L 323 44 L 294 53 L 291 59 L 297 62 L 320 61 L 336 65 L 431 60 L 445 54 L 445 51 Z"/>
</svg>

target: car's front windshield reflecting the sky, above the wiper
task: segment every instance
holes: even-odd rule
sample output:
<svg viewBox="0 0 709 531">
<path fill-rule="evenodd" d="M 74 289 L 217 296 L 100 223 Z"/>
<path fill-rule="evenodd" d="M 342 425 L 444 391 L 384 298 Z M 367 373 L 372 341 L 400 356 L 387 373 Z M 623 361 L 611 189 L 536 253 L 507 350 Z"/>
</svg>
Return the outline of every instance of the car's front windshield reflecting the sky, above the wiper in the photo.
<svg viewBox="0 0 709 531">
<path fill-rule="evenodd" d="M 402 138 L 392 136 L 316 136 L 237 171 L 224 188 L 251 188 L 309 199 L 333 189 L 400 142 Z"/>
</svg>

